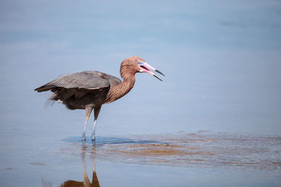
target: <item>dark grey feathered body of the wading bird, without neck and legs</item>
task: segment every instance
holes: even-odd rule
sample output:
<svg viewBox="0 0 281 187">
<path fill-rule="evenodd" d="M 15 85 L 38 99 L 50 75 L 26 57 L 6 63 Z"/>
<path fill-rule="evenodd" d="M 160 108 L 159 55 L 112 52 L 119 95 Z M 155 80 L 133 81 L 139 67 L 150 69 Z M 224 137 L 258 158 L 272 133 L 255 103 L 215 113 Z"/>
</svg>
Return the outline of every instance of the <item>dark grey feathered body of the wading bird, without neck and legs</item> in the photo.
<svg viewBox="0 0 281 187">
<path fill-rule="evenodd" d="M 115 76 L 98 71 L 83 71 L 59 76 L 55 80 L 36 88 L 37 92 L 51 90 L 50 100 L 62 102 L 68 109 L 96 108 L 105 102 L 111 87 L 121 83 Z"/>
</svg>

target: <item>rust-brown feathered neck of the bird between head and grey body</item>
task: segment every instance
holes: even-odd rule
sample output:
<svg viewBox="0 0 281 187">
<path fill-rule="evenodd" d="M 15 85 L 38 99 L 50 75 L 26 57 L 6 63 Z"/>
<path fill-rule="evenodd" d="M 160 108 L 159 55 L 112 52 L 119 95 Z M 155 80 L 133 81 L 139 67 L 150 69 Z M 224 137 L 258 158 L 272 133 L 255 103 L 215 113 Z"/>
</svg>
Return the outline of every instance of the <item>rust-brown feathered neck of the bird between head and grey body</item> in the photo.
<svg viewBox="0 0 281 187">
<path fill-rule="evenodd" d="M 110 91 L 107 94 L 106 103 L 114 102 L 126 95 L 133 88 L 135 81 L 135 74 L 130 74 L 129 76 L 124 77 L 122 83 L 110 88 Z"/>
</svg>

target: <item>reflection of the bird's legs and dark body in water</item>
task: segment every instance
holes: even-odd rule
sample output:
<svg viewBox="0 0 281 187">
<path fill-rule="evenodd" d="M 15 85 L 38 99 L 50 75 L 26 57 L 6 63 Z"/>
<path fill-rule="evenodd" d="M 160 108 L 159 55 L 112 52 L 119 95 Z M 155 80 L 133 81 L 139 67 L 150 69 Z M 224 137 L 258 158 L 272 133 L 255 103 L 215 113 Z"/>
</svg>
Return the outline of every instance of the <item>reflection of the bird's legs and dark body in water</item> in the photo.
<svg viewBox="0 0 281 187">
<path fill-rule="evenodd" d="M 92 158 L 93 162 L 93 176 L 92 176 L 92 182 L 90 182 L 89 177 L 87 175 L 86 171 L 86 160 L 85 160 L 85 151 L 82 151 L 81 158 L 83 160 L 83 167 L 84 167 L 84 181 L 73 181 L 68 180 L 65 181 L 60 187 L 99 187 L 100 183 L 98 182 L 98 176 L 96 174 L 96 158 L 95 155 Z"/>
</svg>

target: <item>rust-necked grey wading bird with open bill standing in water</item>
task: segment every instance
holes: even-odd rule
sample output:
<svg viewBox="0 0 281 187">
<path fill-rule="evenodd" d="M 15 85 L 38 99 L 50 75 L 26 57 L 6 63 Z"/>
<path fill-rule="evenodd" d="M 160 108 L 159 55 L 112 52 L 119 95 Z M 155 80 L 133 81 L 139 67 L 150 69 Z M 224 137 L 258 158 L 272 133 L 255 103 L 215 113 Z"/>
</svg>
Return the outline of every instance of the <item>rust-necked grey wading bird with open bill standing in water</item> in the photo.
<svg viewBox="0 0 281 187">
<path fill-rule="evenodd" d="M 65 104 L 67 109 L 70 110 L 85 110 L 85 124 L 81 136 L 83 146 L 86 141 L 85 134 L 88 120 L 93 111 L 94 120 L 91 141 L 94 146 L 96 145 L 96 123 L 101 106 L 115 102 L 126 95 L 133 88 L 136 73 L 146 72 L 162 81 L 152 71 L 162 74 L 161 71 L 152 67 L 141 57 L 133 56 L 126 58 L 121 63 L 120 76 L 123 81 L 99 71 L 82 71 L 59 76 L 55 80 L 34 89 L 34 91 L 45 92 L 51 90 L 53 95 L 49 98 L 50 101 Z"/>
</svg>

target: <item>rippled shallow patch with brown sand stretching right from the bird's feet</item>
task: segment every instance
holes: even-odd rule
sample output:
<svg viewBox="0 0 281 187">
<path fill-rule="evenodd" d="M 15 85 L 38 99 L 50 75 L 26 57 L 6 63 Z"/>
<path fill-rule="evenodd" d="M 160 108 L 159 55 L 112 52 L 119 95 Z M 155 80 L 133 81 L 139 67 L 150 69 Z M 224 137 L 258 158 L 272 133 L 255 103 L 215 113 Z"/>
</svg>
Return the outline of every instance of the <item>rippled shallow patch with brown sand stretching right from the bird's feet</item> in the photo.
<svg viewBox="0 0 281 187">
<path fill-rule="evenodd" d="M 74 138 L 65 141 L 74 141 Z M 95 148 L 88 142 L 85 151 L 100 160 L 173 167 L 237 167 L 276 172 L 280 172 L 281 167 L 281 137 L 277 136 L 140 135 L 107 138 L 107 142 L 101 139 Z"/>
</svg>

